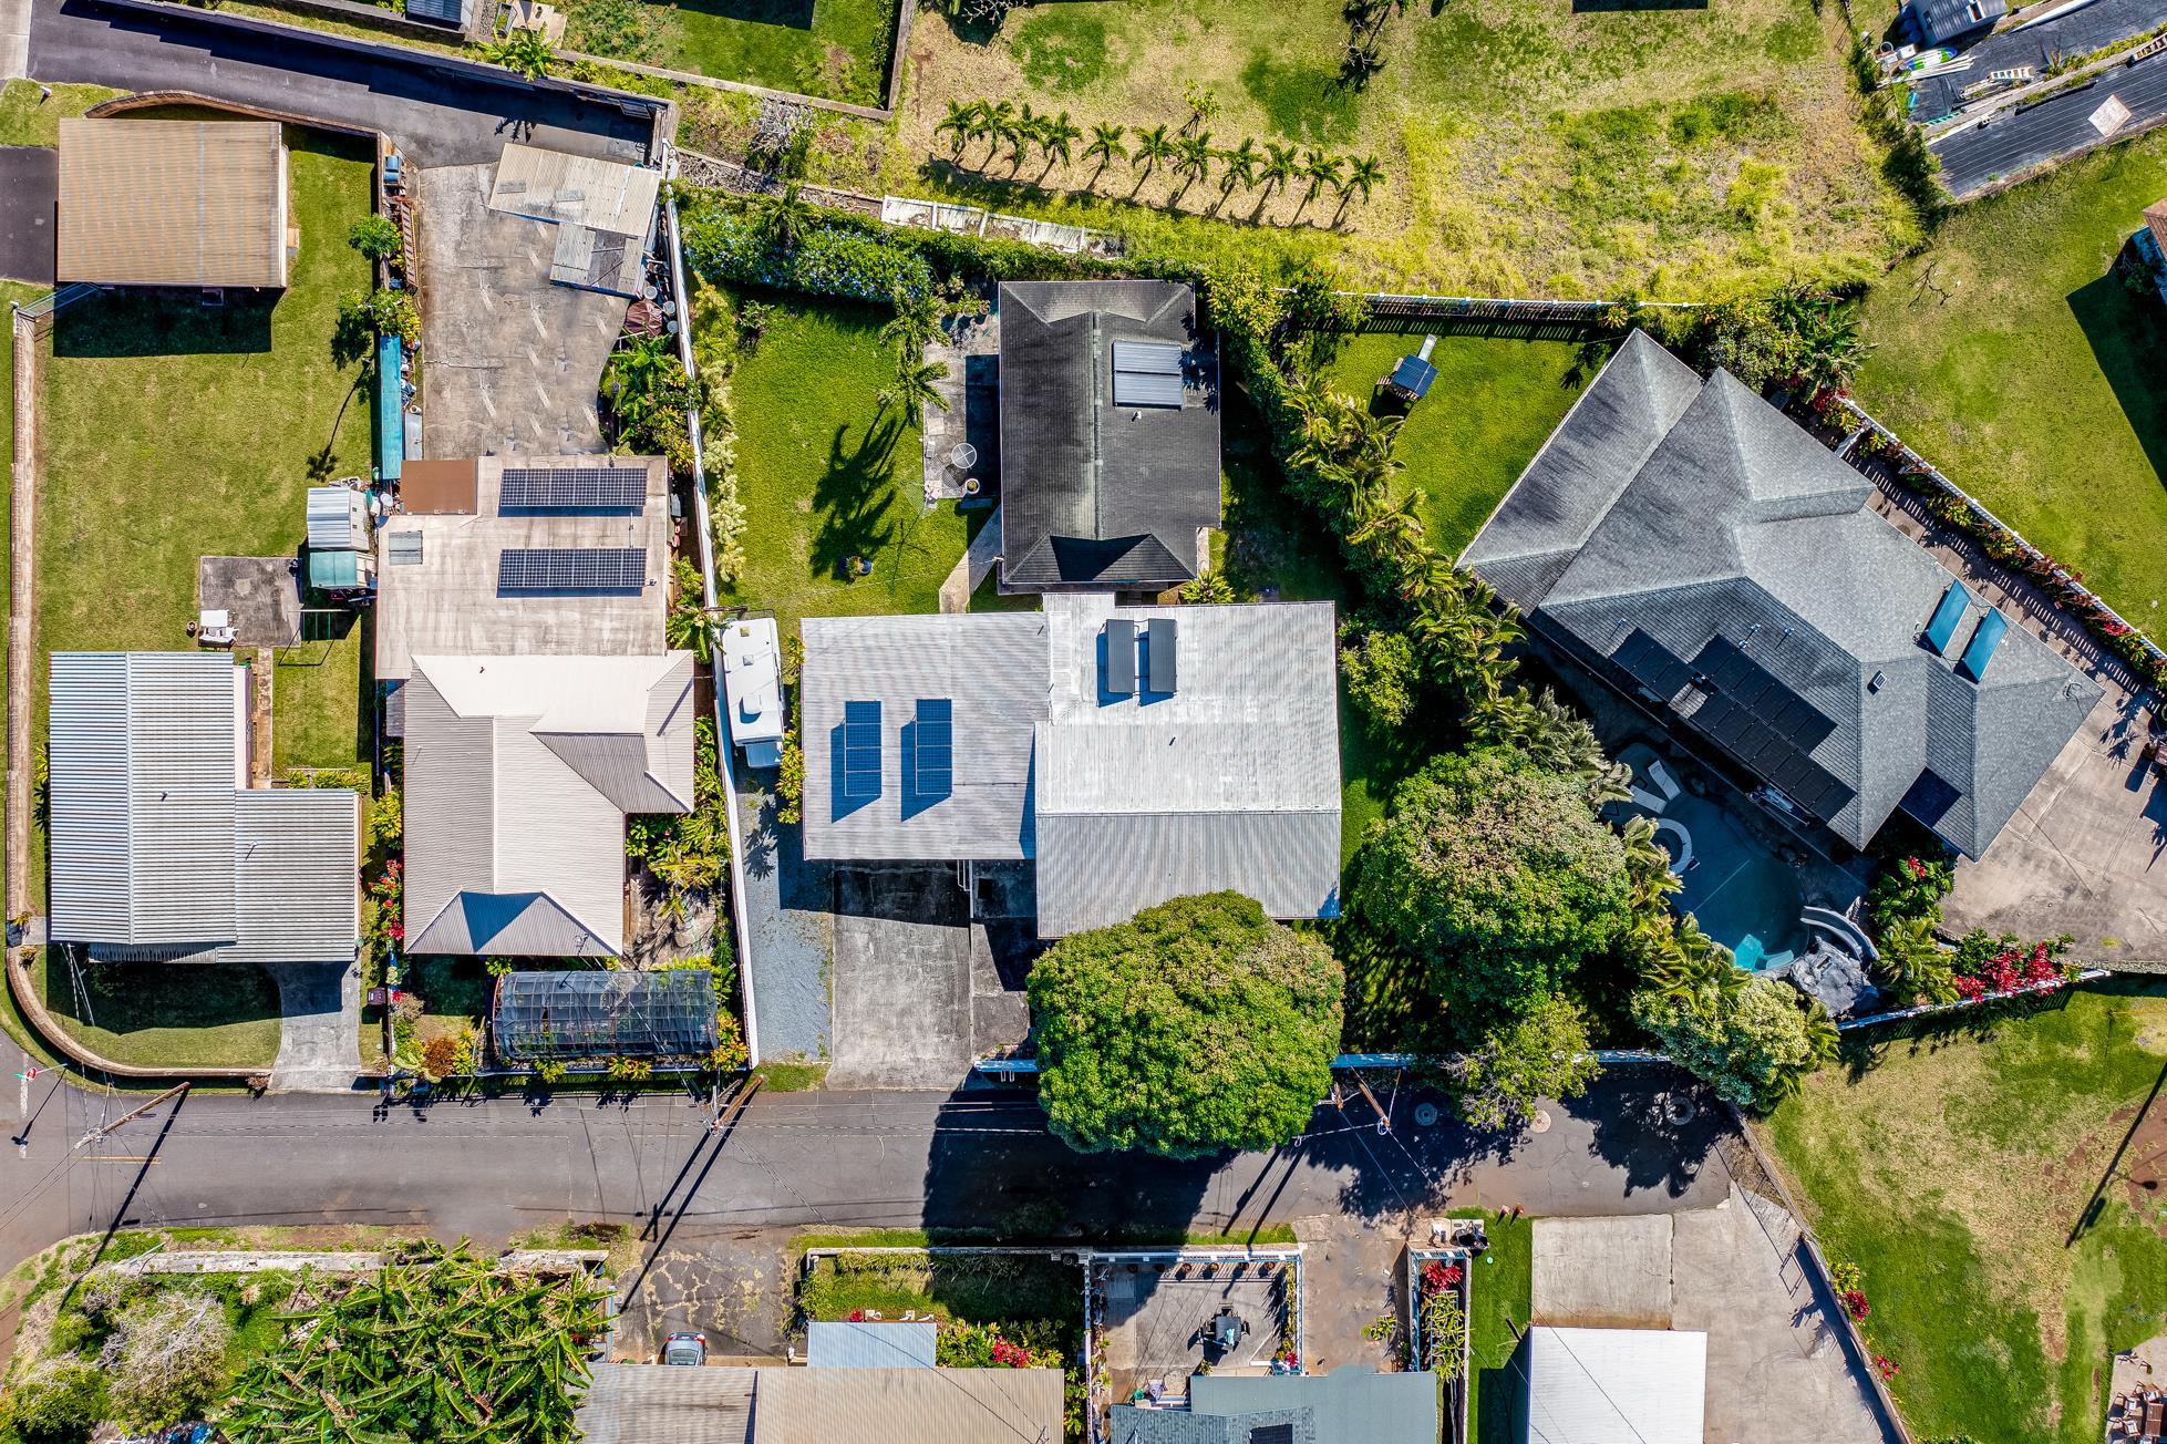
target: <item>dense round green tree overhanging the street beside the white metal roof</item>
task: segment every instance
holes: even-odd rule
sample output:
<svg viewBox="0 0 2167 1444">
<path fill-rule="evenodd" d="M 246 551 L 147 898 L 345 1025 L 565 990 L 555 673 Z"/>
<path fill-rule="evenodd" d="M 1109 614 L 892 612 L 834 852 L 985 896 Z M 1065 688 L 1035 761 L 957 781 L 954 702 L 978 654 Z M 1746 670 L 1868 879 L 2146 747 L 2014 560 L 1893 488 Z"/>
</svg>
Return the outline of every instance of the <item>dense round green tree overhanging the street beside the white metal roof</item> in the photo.
<svg viewBox="0 0 2167 1444">
<path fill-rule="evenodd" d="M 1339 1047 L 1339 960 L 1240 893 L 1055 943 L 1029 980 L 1038 1099 L 1081 1151 L 1198 1158 L 1302 1132 Z"/>
</svg>

